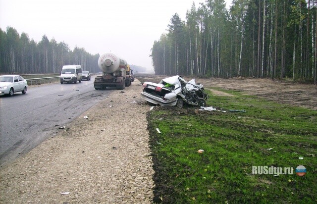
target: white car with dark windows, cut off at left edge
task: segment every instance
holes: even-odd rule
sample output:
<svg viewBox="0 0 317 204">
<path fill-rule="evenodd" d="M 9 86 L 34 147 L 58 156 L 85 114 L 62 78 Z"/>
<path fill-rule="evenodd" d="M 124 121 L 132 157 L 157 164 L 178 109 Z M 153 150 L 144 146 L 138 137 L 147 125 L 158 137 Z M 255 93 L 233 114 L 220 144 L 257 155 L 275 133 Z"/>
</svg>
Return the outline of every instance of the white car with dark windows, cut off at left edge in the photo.
<svg viewBox="0 0 317 204">
<path fill-rule="evenodd" d="M 20 75 L 1 75 L 0 76 L 0 94 L 12 96 L 15 92 L 26 93 L 28 84 Z"/>
</svg>

